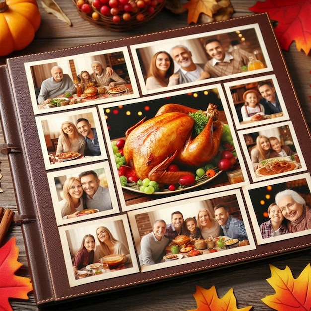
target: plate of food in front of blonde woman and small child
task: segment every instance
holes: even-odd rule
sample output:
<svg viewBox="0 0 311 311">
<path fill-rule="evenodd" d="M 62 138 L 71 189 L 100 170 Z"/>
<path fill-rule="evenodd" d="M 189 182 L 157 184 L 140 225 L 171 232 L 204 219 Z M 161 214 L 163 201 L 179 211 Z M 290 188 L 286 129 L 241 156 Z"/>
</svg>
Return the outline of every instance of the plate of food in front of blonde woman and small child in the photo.
<svg viewBox="0 0 311 311">
<path fill-rule="evenodd" d="M 273 157 L 260 162 L 261 167 L 256 170 L 260 177 L 276 175 L 297 169 L 299 165 L 290 157 Z"/>
</svg>

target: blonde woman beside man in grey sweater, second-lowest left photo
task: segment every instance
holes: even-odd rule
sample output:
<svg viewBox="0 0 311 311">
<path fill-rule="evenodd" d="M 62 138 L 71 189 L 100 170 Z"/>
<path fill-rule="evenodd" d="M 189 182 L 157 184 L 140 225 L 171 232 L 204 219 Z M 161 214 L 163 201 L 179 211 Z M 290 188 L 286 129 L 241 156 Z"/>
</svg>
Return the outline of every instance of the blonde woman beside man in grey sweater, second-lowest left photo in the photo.
<svg viewBox="0 0 311 311">
<path fill-rule="evenodd" d="M 83 207 L 83 189 L 77 177 L 70 177 L 63 185 L 64 199 L 59 202 L 62 219 L 77 217 Z"/>
</svg>

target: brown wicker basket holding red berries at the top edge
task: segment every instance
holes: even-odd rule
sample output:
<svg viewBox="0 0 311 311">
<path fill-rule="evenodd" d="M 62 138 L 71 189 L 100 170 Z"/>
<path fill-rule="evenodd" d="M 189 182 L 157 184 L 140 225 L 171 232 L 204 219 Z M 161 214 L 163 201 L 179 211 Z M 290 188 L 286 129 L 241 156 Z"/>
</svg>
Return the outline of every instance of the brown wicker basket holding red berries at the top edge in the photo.
<svg viewBox="0 0 311 311">
<path fill-rule="evenodd" d="M 163 0 L 161 3 L 158 3 L 152 14 L 150 14 L 148 12 L 147 7 L 144 7 L 142 9 L 140 9 L 137 13 L 131 13 L 132 17 L 130 20 L 127 20 L 127 21 L 122 20 L 122 14 L 123 14 L 123 12 L 122 12 L 122 13 L 120 13 L 121 21 L 118 24 L 116 24 L 112 21 L 112 15 L 111 16 L 105 16 L 105 15 L 101 14 L 96 8 L 92 7 L 93 11 L 97 12 L 99 14 L 99 19 L 94 20 L 91 15 L 85 14 L 84 12 L 82 12 L 78 8 L 78 6 L 76 4 L 76 0 L 72 0 L 72 2 L 76 6 L 80 16 L 83 19 L 87 20 L 88 22 L 90 22 L 91 24 L 93 24 L 95 26 L 106 28 L 106 29 L 112 30 L 112 31 L 120 31 L 120 32 L 121 31 L 128 31 L 132 28 L 136 28 L 136 27 L 139 27 L 139 26 L 145 24 L 146 22 L 148 22 L 149 20 L 154 18 L 162 10 L 162 8 L 165 5 L 165 0 Z M 136 16 L 140 13 L 144 15 L 144 19 L 142 21 L 138 21 L 136 19 Z"/>
</svg>

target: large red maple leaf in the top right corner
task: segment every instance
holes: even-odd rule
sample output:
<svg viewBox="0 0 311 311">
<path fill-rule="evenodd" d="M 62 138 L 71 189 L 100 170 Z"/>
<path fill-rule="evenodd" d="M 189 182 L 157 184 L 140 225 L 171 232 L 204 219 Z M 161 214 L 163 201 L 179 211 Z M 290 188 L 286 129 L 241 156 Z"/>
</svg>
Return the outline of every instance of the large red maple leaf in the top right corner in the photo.
<svg viewBox="0 0 311 311">
<path fill-rule="evenodd" d="M 275 34 L 282 49 L 287 51 L 291 43 L 296 41 L 297 50 L 309 54 L 311 49 L 310 0 L 258 1 L 249 10 L 256 13 L 268 12 L 270 19 L 278 22 Z"/>
</svg>

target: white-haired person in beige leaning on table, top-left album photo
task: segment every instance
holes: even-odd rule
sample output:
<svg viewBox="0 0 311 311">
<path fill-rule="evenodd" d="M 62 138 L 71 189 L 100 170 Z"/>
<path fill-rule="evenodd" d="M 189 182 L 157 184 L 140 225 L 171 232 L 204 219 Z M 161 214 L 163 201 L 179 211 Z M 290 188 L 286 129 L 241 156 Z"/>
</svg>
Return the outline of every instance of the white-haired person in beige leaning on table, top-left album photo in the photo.
<svg viewBox="0 0 311 311">
<path fill-rule="evenodd" d="M 98 61 L 92 62 L 92 69 L 91 78 L 95 79 L 100 86 L 114 87 L 116 85 L 126 84 L 126 81 L 112 71 L 111 68 L 109 68 L 110 70 L 107 70 L 107 68 L 104 69 L 103 65 Z"/>
</svg>

